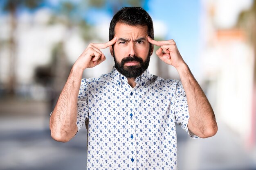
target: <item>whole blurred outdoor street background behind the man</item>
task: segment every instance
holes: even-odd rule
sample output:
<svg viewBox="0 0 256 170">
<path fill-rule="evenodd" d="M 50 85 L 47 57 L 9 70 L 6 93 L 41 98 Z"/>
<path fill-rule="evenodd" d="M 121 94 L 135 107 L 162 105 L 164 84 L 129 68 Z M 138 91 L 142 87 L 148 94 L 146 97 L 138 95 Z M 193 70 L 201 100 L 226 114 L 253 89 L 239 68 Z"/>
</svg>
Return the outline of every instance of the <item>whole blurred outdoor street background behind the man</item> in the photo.
<svg viewBox="0 0 256 170">
<path fill-rule="evenodd" d="M 0 170 L 84 170 L 86 128 L 50 137 L 49 114 L 72 64 L 90 42 L 107 42 L 112 16 L 139 6 L 155 39 L 174 39 L 206 93 L 218 133 L 190 139 L 177 126 L 180 170 L 256 170 L 255 0 L 0 0 Z M 113 59 L 85 70 L 109 72 Z M 149 70 L 179 79 L 153 54 Z"/>
</svg>

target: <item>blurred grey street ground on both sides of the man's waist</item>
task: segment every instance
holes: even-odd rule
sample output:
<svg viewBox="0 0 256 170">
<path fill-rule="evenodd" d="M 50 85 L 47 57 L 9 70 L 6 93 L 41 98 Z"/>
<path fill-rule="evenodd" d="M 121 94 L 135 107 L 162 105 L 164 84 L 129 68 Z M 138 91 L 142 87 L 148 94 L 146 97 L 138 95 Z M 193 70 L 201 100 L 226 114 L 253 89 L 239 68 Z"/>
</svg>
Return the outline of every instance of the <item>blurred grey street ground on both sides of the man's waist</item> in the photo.
<svg viewBox="0 0 256 170">
<path fill-rule="evenodd" d="M 41 109 L 26 116 L 2 114 L 0 170 L 85 170 L 85 127 L 70 142 L 56 142 L 50 136 L 49 116 L 43 113 L 45 103 L 33 105 Z M 256 170 L 256 150 L 246 151 L 234 132 L 222 122 L 218 126 L 216 136 L 208 139 L 190 139 L 177 126 L 179 170 Z"/>
</svg>

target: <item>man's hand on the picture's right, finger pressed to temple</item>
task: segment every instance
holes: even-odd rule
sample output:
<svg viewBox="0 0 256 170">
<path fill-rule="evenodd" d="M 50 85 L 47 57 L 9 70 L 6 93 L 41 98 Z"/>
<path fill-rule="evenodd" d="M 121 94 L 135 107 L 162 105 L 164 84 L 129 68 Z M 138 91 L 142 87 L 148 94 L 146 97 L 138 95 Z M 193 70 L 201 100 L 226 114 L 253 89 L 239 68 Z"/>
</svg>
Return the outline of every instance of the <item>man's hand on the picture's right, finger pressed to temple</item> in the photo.
<svg viewBox="0 0 256 170">
<path fill-rule="evenodd" d="M 173 65 L 177 69 L 180 65 L 185 63 L 173 39 L 167 41 L 155 41 L 149 36 L 147 39 L 149 43 L 160 47 L 156 51 L 156 54 L 166 64 Z"/>
</svg>

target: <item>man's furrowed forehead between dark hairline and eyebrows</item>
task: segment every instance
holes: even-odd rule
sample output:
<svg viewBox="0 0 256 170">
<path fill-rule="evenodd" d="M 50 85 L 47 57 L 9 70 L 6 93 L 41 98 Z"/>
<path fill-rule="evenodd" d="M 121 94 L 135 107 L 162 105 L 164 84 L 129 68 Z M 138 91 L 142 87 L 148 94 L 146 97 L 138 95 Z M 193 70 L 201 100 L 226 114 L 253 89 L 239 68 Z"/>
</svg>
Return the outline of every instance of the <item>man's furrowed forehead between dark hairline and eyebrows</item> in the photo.
<svg viewBox="0 0 256 170">
<path fill-rule="evenodd" d="M 130 26 L 124 23 L 118 22 L 115 26 L 115 36 L 117 37 L 146 37 L 148 34 L 147 26 Z"/>
</svg>

